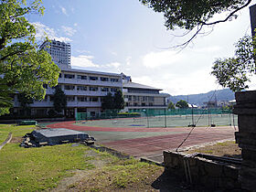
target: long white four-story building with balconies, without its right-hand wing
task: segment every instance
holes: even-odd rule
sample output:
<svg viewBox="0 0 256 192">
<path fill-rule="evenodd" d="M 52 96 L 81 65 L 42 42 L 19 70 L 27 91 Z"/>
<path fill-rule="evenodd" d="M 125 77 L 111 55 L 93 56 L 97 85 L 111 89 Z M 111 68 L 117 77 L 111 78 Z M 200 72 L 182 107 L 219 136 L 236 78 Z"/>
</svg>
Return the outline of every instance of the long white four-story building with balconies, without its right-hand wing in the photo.
<svg viewBox="0 0 256 192">
<path fill-rule="evenodd" d="M 122 90 L 123 81 L 121 74 L 80 69 L 61 69 L 58 87 L 67 96 L 66 115 L 68 117 L 75 117 L 76 112 L 90 112 L 93 116 L 101 113 L 101 97 L 108 92 L 114 93 L 117 90 Z M 31 113 L 34 115 L 47 115 L 48 111 L 53 109 L 55 88 L 46 88 L 45 100 L 34 101 L 33 104 L 30 104 Z M 18 110 L 19 106 L 16 96 L 14 107 Z"/>
</svg>

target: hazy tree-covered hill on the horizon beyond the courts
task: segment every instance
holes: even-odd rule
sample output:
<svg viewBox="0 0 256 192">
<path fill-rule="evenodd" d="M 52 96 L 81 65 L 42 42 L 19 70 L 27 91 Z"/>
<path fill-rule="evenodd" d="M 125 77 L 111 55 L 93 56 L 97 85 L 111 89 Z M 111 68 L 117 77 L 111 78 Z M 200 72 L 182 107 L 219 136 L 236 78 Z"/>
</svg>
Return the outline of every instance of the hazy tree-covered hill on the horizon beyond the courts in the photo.
<svg viewBox="0 0 256 192">
<path fill-rule="evenodd" d="M 235 99 L 235 93 L 229 89 L 219 90 L 219 91 L 209 91 L 207 93 L 191 94 L 191 95 L 176 95 L 170 96 L 168 99 L 174 103 L 180 100 L 187 101 L 190 104 L 196 104 L 197 106 L 204 105 L 204 102 L 208 101 L 230 101 Z"/>
</svg>

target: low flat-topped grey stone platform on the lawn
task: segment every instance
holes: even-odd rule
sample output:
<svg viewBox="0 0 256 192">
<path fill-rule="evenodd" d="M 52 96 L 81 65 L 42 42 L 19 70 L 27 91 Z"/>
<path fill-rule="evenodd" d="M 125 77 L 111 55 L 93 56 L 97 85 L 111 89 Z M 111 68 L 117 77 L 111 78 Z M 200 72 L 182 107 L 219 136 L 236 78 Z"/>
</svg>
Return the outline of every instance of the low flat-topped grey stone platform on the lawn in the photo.
<svg viewBox="0 0 256 192">
<path fill-rule="evenodd" d="M 38 147 L 43 145 L 78 143 L 94 144 L 95 139 L 87 133 L 74 130 L 42 129 L 25 134 L 24 140 L 20 144 L 23 147 Z"/>
</svg>

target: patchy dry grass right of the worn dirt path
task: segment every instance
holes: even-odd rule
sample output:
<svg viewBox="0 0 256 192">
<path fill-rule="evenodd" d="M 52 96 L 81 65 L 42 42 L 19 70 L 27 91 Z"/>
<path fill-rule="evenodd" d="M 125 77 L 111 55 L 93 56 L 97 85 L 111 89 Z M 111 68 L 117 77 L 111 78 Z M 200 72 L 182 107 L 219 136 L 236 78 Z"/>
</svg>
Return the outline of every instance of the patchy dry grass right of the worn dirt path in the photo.
<svg viewBox="0 0 256 192">
<path fill-rule="evenodd" d="M 152 190 L 151 184 L 164 167 L 139 162 L 136 159 L 113 161 L 93 173 L 77 186 L 82 191 Z"/>
</svg>

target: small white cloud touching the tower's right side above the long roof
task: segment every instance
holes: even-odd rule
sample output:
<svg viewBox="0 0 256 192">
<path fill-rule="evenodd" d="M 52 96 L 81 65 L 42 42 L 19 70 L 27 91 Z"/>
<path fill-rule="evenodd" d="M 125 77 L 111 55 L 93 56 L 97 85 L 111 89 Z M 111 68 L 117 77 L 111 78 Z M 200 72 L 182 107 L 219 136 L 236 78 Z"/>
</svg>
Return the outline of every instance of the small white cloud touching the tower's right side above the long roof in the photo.
<svg viewBox="0 0 256 192">
<path fill-rule="evenodd" d="M 71 56 L 71 66 L 76 68 L 99 68 L 98 64 L 93 63 L 93 56 L 80 55 L 78 57 Z"/>
</svg>

